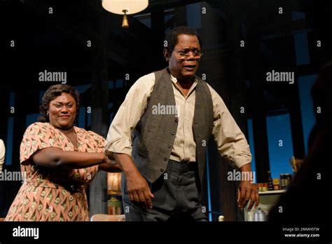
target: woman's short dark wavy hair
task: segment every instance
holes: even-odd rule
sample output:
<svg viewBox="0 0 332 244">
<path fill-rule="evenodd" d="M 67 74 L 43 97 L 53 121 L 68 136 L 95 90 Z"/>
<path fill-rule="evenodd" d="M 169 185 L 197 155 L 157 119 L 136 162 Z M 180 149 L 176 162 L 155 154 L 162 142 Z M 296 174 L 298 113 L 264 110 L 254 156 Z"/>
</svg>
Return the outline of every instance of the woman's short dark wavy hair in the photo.
<svg viewBox="0 0 332 244">
<path fill-rule="evenodd" d="M 76 118 L 78 117 L 78 107 L 80 104 L 80 93 L 73 86 L 57 84 L 54 86 L 50 86 L 43 95 L 41 100 L 41 105 L 39 106 L 39 111 L 41 116 L 39 116 L 39 122 L 50 122 L 50 118 L 48 118 L 47 111 L 50 107 L 50 101 L 54 100 L 55 97 L 59 97 L 62 93 L 68 93 L 71 97 L 76 101 Z"/>
</svg>

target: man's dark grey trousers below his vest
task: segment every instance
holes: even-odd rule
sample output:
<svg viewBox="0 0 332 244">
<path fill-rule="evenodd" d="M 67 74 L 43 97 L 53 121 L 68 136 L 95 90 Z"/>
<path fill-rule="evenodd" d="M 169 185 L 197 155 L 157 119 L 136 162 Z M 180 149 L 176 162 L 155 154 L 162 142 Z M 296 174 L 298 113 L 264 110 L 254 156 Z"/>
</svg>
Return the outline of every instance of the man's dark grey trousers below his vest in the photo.
<svg viewBox="0 0 332 244">
<path fill-rule="evenodd" d="M 207 221 L 200 205 L 199 177 L 196 163 L 170 160 L 167 169 L 155 182 L 148 182 L 153 208 L 144 209 L 131 202 L 123 175 L 123 208 L 126 221 Z"/>
</svg>

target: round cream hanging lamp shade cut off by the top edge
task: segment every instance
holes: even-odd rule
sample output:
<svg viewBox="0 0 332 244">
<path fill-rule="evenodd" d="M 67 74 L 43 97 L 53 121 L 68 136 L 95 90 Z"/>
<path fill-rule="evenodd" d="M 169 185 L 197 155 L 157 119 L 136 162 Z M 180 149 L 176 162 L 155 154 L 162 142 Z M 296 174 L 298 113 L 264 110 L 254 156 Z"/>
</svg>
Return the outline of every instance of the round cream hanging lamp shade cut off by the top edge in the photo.
<svg viewBox="0 0 332 244">
<path fill-rule="evenodd" d="M 102 0 L 102 6 L 111 13 L 123 15 L 123 11 L 127 11 L 127 15 L 143 11 L 148 6 L 148 0 Z"/>
</svg>

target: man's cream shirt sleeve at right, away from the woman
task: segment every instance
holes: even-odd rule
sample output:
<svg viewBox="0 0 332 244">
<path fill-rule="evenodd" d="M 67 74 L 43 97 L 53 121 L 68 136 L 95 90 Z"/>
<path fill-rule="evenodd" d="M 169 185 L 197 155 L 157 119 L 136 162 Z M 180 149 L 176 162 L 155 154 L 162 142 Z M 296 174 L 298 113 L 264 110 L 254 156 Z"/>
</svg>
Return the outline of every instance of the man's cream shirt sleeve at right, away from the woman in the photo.
<svg viewBox="0 0 332 244">
<path fill-rule="evenodd" d="M 214 108 L 212 135 L 218 151 L 233 167 L 241 168 L 251 163 L 249 144 L 220 95 L 211 86 L 209 89 Z"/>
</svg>

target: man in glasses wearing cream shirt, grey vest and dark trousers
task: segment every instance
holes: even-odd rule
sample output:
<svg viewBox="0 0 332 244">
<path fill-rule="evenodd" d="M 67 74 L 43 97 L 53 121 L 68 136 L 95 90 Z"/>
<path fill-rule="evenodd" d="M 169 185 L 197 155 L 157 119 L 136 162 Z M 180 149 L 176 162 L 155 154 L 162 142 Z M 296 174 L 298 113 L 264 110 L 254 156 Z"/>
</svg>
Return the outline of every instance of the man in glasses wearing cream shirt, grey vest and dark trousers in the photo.
<svg viewBox="0 0 332 244">
<path fill-rule="evenodd" d="M 109 128 L 106 150 L 123 168 L 127 221 L 207 221 L 200 205 L 205 150 L 213 135 L 222 156 L 251 171 L 247 140 L 221 97 L 195 73 L 202 56 L 198 33 L 176 27 L 166 36 L 167 69 L 130 88 Z M 238 205 L 258 205 L 258 192 L 242 181 Z"/>
</svg>

